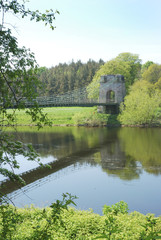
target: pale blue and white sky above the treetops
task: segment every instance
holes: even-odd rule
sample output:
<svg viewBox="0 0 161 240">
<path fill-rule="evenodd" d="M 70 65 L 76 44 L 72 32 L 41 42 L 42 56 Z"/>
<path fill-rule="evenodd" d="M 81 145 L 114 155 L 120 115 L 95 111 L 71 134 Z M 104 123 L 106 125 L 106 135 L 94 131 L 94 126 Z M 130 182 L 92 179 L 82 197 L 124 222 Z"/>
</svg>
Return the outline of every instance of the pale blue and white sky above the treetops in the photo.
<svg viewBox="0 0 161 240">
<path fill-rule="evenodd" d="M 161 64 L 161 0 L 30 0 L 26 6 L 60 12 L 54 31 L 29 19 L 6 19 L 40 66 L 106 62 L 123 52 L 138 54 L 142 63 Z"/>
</svg>

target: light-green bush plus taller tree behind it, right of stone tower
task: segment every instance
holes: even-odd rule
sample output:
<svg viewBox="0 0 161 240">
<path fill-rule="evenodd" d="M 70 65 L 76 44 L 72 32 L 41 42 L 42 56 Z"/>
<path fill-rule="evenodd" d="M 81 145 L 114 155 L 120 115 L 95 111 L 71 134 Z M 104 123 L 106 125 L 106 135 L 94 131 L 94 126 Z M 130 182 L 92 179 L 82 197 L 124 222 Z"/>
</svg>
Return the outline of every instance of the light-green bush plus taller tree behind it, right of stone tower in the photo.
<svg viewBox="0 0 161 240">
<path fill-rule="evenodd" d="M 121 105 L 119 120 L 126 125 L 159 124 L 161 65 L 148 61 L 142 66 L 140 81 L 133 84 Z"/>
</svg>

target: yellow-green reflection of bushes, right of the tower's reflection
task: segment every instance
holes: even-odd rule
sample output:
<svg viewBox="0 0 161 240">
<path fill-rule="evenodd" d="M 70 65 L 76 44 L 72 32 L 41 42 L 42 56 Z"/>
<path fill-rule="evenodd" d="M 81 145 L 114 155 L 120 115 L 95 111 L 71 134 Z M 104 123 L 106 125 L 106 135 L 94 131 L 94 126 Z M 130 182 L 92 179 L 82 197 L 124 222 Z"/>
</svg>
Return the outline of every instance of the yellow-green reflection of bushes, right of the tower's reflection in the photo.
<svg viewBox="0 0 161 240">
<path fill-rule="evenodd" d="M 147 172 L 161 174 L 160 128 L 124 128 L 118 136 L 126 156 L 139 161 Z"/>
</svg>

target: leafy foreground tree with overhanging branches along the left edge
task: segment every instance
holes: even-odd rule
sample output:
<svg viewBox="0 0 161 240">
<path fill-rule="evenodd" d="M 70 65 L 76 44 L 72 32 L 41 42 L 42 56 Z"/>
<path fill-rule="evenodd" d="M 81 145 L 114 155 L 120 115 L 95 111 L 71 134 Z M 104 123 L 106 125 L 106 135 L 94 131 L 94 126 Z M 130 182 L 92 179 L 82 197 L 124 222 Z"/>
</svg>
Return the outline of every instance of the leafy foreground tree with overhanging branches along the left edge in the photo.
<svg viewBox="0 0 161 240">
<path fill-rule="evenodd" d="M 14 173 L 15 168 L 19 168 L 16 161 L 17 154 L 23 154 L 28 160 L 39 162 L 38 154 L 31 145 L 24 145 L 16 142 L 13 136 L 5 132 L 4 126 L 15 124 L 15 113 L 24 109 L 31 116 L 38 128 L 43 124 L 49 124 L 47 116 L 39 108 L 36 100 L 37 90 L 40 87 L 36 78 L 37 63 L 34 54 L 25 47 L 19 48 L 17 39 L 12 35 L 12 30 L 5 25 L 5 15 L 10 12 L 22 18 L 29 16 L 30 20 L 36 22 L 43 21 L 54 30 L 53 20 L 56 11 L 52 9 L 41 13 L 38 10 L 26 9 L 25 1 L 1 0 L 0 14 L 0 174 L 12 180 L 23 182 L 20 176 Z M 26 109 L 25 102 L 32 101 L 33 107 Z M 8 109 L 12 108 L 13 111 Z"/>
</svg>

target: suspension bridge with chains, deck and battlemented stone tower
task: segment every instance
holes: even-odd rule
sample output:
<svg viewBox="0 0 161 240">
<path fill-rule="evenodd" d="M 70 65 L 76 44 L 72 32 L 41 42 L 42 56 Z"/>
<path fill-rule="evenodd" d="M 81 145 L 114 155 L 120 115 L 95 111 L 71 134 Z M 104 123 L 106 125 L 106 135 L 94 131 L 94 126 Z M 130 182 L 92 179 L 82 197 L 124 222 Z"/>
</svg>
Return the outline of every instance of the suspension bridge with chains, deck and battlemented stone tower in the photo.
<svg viewBox="0 0 161 240">
<path fill-rule="evenodd" d="M 122 75 L 104 75 L 100 79 L 99 98 L 89 97 L 86 87 L 68 91 L 62 95 L 37 97 L 35 101 L 40 107 L 98 106 L 100 112 L 116 113 L 125 96 L 125 81 Z M 25 101 L 26 107 L 34 102 Z"/>
</svg>

